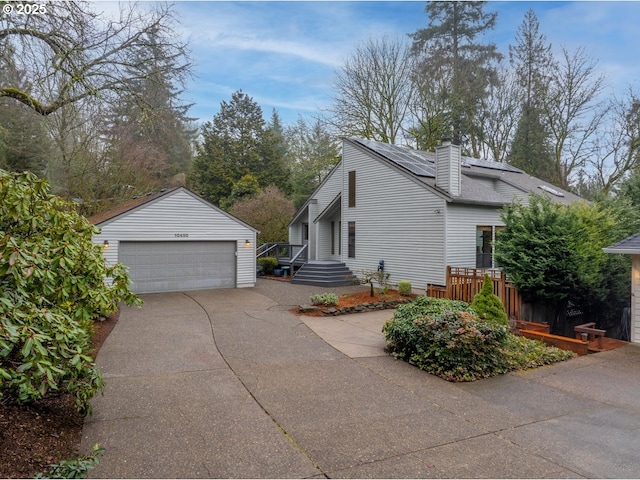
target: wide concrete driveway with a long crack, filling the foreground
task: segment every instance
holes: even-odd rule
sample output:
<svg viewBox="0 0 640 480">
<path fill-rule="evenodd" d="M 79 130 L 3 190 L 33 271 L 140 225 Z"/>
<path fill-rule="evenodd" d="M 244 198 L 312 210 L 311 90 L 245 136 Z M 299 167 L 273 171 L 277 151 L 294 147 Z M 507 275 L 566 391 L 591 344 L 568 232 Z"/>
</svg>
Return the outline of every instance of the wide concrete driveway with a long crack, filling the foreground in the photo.
<svg viewBox="0 0 640 480">
<path fill-rule="evenodd" d="M 639 346 L 451 384 L 384 354 L 391 312 L 297 317 L 276 283 L 122 311 L 91 477 L 640 477 Z"/>
</svg>

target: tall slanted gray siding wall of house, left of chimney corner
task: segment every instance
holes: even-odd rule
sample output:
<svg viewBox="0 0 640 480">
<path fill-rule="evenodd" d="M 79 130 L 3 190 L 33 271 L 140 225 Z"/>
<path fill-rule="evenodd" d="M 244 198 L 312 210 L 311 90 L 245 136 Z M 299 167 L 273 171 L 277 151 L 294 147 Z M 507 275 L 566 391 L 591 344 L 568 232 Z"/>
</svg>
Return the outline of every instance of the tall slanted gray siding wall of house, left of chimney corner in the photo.
<svg viewBox="0 0 640 480">
<path fill-rule="evenodd" d="M 385 261 L 393 284 L 442 284 L 444 203 L 423 185 L 345 142 L 343 150 L 342 260 L 356 274 Z M 347 172 L 355 170 L 356 207 L 348 207 Z M 348 258 L 348 222 L 356 222 L 356 258 Z"/>
</svg>

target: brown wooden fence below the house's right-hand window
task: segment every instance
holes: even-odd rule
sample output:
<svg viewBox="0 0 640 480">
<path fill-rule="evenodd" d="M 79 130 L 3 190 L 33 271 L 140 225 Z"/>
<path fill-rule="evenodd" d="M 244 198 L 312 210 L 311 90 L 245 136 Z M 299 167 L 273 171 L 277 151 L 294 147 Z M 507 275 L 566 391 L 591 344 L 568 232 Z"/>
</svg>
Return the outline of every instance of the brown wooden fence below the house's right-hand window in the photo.
<svg viewBox="0 0 640 480">
<path fill-rule="evenodd" d="M 475 294 L 482 290 L 485 273 L 491 277 L 493 293 L 502 301 L 507 316 L 520 319 L 520 294 L 499 270 L 447 266 L 447 286 L 427 285 L 427 296 L 471 303 Z"/>
</svg>

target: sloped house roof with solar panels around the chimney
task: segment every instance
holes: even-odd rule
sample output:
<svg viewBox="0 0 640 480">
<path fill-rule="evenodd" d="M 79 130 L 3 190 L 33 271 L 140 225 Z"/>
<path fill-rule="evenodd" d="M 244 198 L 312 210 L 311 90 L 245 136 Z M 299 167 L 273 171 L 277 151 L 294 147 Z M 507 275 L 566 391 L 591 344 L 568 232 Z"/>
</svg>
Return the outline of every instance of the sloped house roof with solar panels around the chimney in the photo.
<svg viewBox="0 0 640 480">
<path fill-rule="evenodd" d="M 436 154 L 362 138 L 348 141 L 376 154 L 391 166 L 413 176 L 434 190 L 436 186 Z M 460 196 L 449 196 L 452 202 L 483 205 L 505 205 L 513 201 L 513 189 L 525 195 L 546 193 L 559 203 L 581 200 L 577 195 L 556 187 L 507 163 L 480 158 L 461 157 L 462 185 Z M 441 191 L 447 196 L 447 192 Z"/>
</svg>

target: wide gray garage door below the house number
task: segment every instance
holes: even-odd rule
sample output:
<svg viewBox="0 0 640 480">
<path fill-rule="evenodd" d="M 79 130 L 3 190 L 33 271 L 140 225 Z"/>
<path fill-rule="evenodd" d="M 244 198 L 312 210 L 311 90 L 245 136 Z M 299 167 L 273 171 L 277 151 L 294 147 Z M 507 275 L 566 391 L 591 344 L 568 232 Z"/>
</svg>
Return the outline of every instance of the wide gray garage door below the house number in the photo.
<svg viewBox="0 0 640 480">
<path fill-rule="evenodd" d="M 236 286 L 236 242 L 120 242 L 136 293 Z"/>
</svg>

